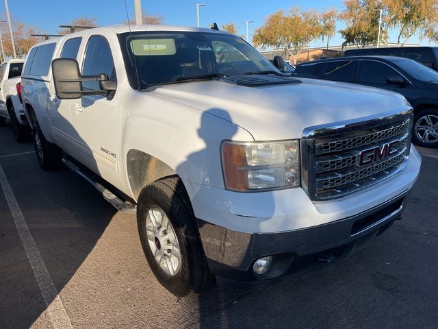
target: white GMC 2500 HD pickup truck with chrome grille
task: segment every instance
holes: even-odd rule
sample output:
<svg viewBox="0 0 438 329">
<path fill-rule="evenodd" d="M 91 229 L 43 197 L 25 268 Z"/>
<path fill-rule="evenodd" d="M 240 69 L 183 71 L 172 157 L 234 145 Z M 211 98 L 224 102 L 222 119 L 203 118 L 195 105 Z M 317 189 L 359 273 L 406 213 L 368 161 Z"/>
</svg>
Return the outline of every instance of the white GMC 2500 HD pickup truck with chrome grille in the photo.
<svg viewBox="0 0 438 329">
<path fill-rule="evenodd" d="M 420 171 L 404 97 L 285 77 L 215 29 L 47 40 L 21 85 L 42 167 L 64 158 L 136 206 L 149 266 L 175 295 L 341 258 L 400 219 Z"/>
</svg>

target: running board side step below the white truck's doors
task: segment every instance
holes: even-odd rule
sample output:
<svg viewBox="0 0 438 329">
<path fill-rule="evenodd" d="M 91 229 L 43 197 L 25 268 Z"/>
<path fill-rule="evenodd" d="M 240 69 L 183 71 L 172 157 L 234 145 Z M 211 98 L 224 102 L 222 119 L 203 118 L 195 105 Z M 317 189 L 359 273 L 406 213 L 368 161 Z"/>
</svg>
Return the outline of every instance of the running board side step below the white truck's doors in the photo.
<svg viewBox="0 0 438 329">
<path fill-rule="evenodd" d="M 105 186 L 103 186 L 101 183 L 97 182 L 92 175 L 89 175 L 88 173 L 86 173 L 86 171 L 77 167 L 77 165 L 68 160 L 68 158 L 62 158 L 62 162 L 66 165 L 68 169 L 74 171 L 75 173 L 77 173 L 77 175 L 85 178 L 87 182 L 92 184 L 92 186 L 94 186 L 94 188 L 96 188 L 96 190 L 101 193 L 103 198 L 107 200 L 107 202 L 110 202 L 110 204 L 112 204 L 114 208 L 123 212 L 136 212 L 137 206 L 135 204 L 131 204 L 120 199 L 120 197 L 105 188 Z"/>
</svg>

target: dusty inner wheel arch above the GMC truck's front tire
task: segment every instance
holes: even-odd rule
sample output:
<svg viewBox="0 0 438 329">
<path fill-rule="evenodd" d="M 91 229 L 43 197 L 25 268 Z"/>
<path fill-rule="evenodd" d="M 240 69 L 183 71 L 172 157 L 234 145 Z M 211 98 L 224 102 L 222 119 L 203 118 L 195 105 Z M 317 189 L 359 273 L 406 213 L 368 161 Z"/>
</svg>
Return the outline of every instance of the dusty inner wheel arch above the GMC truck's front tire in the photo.
<svg viewBox="0 0 438 329">
<path fill-rule="evenodd" d="M 138 149 L 127 153 L 127 175 L 134 199 L 138 199 L 142 188 L 157 180 L 177 176 L 177 172 L 162 160 Z"/>
</svg>

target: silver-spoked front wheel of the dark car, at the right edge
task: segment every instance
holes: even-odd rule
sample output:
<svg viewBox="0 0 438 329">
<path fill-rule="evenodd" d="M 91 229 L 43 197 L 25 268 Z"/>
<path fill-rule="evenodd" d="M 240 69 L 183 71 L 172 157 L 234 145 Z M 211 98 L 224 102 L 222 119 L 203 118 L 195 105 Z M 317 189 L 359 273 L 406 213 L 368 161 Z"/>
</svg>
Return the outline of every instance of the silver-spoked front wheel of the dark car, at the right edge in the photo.
<svg viewBox="0 0 438 329">
<path fill-rule="evenodd" d="M 413 143 L 422 147 L 438 147 L 438 109 L 430 108 L 413 117 Z"/>
</svg>

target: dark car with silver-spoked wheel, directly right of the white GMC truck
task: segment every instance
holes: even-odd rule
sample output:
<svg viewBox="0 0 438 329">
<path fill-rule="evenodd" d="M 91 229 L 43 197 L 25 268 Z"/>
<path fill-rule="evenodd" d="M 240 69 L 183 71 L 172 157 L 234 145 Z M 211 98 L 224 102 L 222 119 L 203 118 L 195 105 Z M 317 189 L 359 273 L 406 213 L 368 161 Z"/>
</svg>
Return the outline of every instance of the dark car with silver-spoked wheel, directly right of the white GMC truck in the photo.
<svg viewBox="0 0 438 329">
<path fill-rule="evenodd" d="M 414 109 L 414 143 L 438 147 L 438 72 L 427 66 L 407 58 L 355 56 L 299 64 L 294 77 L 317 77 L 400 93 Z"/>
</svg>

